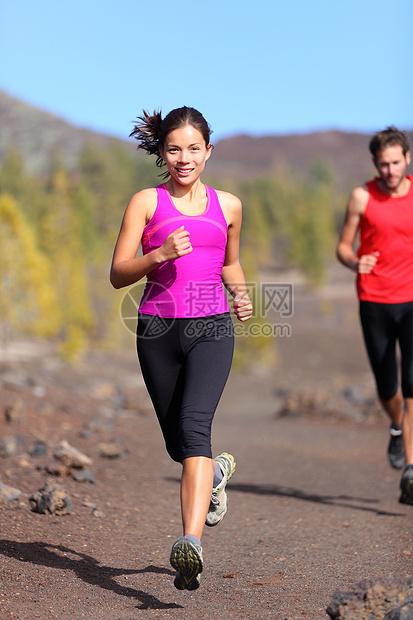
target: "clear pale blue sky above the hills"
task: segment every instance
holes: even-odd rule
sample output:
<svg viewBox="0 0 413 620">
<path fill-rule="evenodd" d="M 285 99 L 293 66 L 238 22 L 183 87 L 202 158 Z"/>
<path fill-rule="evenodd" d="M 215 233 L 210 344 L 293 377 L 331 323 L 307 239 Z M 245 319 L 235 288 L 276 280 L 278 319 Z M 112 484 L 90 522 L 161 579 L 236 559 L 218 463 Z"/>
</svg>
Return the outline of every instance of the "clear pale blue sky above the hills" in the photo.
<svg viewBox="0 0 413 620">
<path fill-rule="evenodd" d="M 181 105 L 215 140 L 412 129 L 411 19 L 408 0 L 0 0 L 0 89 L 123 138 Z"/>
</svg>

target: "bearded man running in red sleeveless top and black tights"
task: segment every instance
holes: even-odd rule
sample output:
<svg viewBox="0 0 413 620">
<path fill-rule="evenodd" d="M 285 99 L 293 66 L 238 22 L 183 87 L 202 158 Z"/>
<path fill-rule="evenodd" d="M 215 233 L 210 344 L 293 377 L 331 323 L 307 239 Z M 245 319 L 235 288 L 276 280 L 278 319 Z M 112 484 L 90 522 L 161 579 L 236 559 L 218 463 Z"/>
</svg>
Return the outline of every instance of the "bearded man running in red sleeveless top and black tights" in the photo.
<svg viewBox="0 0 413 620">
<path fill-rule="evenodd" d="M 407 174 L 407 135 L 388 127 L 371 139 L 370 152 L 379 176 L 352 192 L 337 257 L 357 273 L 367 354 L 391 420 L 388 457 L 392 467 L 403 469 L 400 502 L 413 505 L 413 177 Z"/>
</svg>

